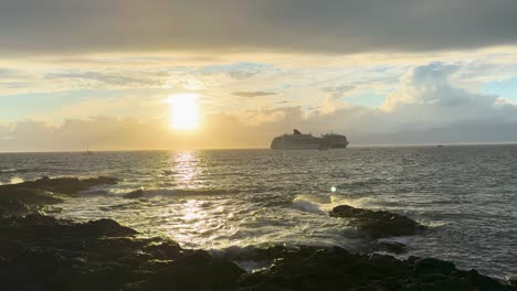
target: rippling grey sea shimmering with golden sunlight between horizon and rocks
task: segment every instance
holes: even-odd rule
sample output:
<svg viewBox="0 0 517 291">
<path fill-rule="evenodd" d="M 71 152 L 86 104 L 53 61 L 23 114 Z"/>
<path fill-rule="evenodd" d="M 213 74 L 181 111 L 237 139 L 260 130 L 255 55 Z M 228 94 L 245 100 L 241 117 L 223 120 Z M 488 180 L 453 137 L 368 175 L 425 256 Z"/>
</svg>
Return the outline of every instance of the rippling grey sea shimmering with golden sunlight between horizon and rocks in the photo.
<svg viewBox="0 0 517 291">
<path fill-rule="evenodd" d="M 43 175 L 124 179 L 59 205 L 59 216 L 110 217 L 184 247 L 354 249 L 365 241 L 327 215 L 350 204 L 429 225 L 397 238 L 409 255 L 499 278 L 517 272 L 517 146 L 0 154 L 1 183 Z M 140 187 L 145 198 L 123 197 Z"/>
</svg>

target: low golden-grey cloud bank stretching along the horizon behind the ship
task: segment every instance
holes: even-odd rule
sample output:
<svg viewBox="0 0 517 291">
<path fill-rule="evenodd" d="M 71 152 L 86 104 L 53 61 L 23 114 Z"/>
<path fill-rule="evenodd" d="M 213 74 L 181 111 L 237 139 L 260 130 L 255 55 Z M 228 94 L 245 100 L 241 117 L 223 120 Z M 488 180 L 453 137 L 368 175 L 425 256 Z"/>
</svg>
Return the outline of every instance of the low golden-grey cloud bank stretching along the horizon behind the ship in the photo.
<svg viewBox="0 0 517 291">
<path fill-rule="evenodd" d="M 274 136 L 293 128 L 346 133 L 356 146 L 517 141 L 517 105 L 454 86 L 451 79 L 462 72 L 455 64 L 413 67 L 376 108 L 331 98 L 333 110 L 291 106 L 215 112 L 204 116 L 193 133 L 175 132 L 162 118 L 0 123 L 0 151 L 82 150 L 87 140 L 96 150 L 266 148 Z"/>
</svg>

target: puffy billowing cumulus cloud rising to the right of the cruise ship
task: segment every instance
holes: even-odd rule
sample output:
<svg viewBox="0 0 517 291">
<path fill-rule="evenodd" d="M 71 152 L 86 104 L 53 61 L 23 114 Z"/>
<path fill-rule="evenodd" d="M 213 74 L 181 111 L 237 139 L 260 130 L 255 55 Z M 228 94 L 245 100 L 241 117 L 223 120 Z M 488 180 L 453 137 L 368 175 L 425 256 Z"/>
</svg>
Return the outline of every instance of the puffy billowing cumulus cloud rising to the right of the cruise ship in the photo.
<svg viewBox="0 0 517 291">
<path fill-rule="evenodd" d="M 465 122 L 517 122 L 517 107 L 493 95 L 468 91 L 452 85 L 457 65 L 431 63 L 412 68 L 400 89 L 388 95 L 381 109 L 399 126 L 450 126 Z"/>
</svg>

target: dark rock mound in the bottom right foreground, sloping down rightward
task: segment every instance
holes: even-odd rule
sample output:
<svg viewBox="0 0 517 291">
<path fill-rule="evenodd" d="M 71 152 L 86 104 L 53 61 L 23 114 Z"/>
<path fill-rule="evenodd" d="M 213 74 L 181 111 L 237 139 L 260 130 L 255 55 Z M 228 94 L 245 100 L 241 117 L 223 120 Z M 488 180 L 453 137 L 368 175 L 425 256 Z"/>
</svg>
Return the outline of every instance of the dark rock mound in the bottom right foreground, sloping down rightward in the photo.
<svg viewBox="0 0 517 291">
<path fill-rule="evenodd" d="M 516 290 L 475 270 L 437 259 L 350 254 L 338 247 L 304 247 L 249 273 L 240 290 Z"/>
</svg>

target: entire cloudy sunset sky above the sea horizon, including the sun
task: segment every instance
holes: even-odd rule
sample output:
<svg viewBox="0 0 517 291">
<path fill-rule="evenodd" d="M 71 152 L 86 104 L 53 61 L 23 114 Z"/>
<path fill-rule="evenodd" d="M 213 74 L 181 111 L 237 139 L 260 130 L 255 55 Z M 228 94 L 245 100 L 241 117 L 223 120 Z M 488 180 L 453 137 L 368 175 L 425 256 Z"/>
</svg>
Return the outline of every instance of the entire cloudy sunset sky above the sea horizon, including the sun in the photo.
<svg viewBox="0 0 517 291">
<path fill-rule="evenodd" d="M 0 151 L 267 148 L 294 128 L 516 142 L 515 14 L 513 0 L 2 0 Z"/>
</svg>

